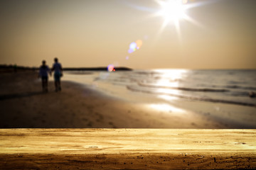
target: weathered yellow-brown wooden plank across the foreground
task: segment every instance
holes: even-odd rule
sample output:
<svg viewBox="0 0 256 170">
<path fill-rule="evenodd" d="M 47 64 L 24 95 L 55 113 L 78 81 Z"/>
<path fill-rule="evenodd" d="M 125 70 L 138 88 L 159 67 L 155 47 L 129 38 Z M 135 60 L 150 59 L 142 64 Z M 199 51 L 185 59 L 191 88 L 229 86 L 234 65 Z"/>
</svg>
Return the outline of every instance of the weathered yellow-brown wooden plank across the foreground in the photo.
<svg viewBox="0 0 256 170">
<path fill-rule="evenodd" d="M 256 130 L 1 129 L 1 169 L 256 169 Z"/>
</svg>

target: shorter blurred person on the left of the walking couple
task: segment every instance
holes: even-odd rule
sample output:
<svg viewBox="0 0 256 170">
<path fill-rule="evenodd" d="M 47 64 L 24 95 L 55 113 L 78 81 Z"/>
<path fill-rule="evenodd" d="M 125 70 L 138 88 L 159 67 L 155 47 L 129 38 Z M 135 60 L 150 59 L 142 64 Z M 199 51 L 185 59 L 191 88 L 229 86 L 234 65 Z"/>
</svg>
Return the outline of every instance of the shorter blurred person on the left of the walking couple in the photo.
<svg viewBox="0 0 256 170">
<path fill-rule="evenodd" d="M 38 77 L 41 77 L 42 79 L 43 92 L 48 92 L 48 74 L 51 76 L 50 69 L 48 65 L 46 65 L 46 61 L 43 60 L 38 75 Z"/>
</svg>

